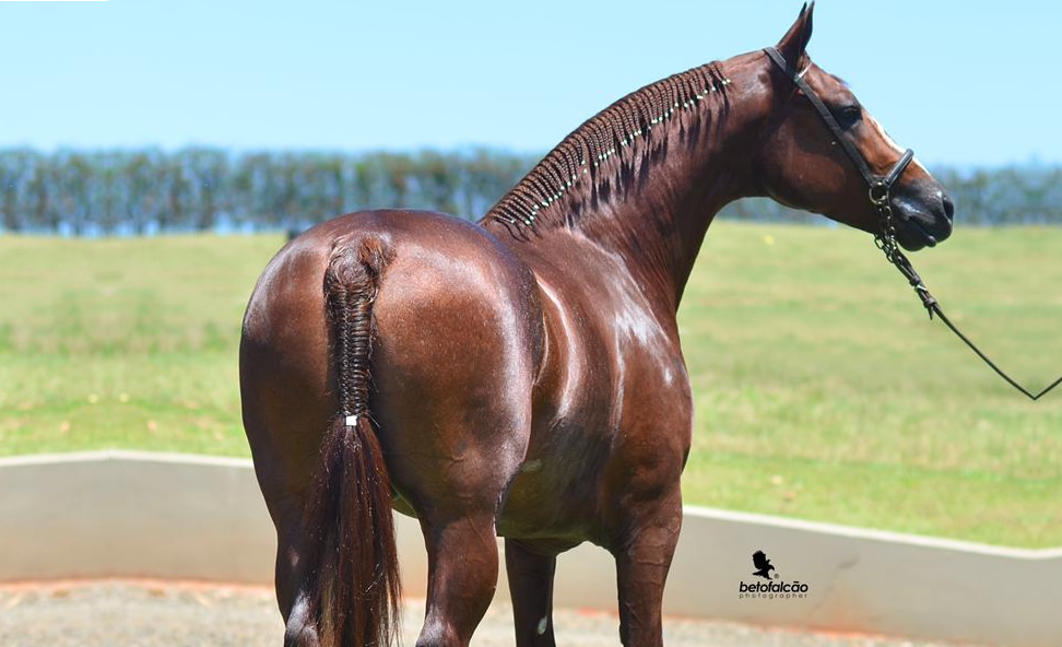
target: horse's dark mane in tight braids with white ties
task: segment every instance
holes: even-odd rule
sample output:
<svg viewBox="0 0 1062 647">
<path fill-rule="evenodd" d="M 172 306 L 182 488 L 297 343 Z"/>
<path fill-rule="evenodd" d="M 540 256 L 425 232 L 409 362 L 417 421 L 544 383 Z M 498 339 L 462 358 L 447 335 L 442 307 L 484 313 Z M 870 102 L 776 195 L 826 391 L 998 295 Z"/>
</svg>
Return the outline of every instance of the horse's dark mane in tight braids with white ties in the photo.
<svg viewBox="0 0 1062 647">
<path fill-rule="evenodd" d="M 729 84 L 718 63 L 707 63 L 636 90 L 566 137 L 491 209 L 486 219 L 546 228 L 574 224 L 586 212 L 588 201 L 595 205 L 600 198 L 614 195 L 613 184 L 623 189 L 635 169 L 644 170 L 645 164 L 637 163 L 639 151 L 651 153 L 652 144 L 666 141 L 668 131 L 678 121 L 671 117 L 698 110 L 711 94 L 721 93 Z M 601 191 L 605 183 L 607 189 Z M 550 209 L 562 197 L 568 197 L 565 209 Z"/>
</svg>

